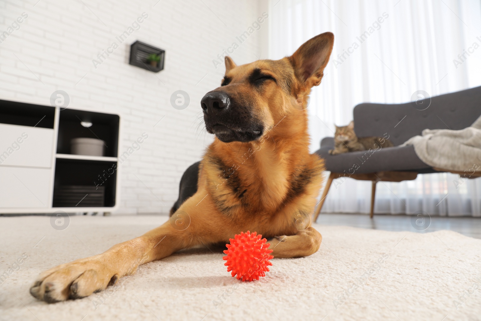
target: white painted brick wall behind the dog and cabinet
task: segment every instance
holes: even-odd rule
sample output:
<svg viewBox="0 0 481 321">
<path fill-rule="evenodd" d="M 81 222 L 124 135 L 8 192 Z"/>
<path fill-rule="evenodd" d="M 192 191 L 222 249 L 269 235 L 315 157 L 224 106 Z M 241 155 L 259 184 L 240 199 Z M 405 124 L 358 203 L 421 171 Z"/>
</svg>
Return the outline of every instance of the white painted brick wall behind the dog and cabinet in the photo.
<svg viewBox="0 0 481 321">
<path fill-rule="evenodd" d="M 71 108 L 120 114 L 120 154 L 143 132 L 148 133 L 141 149 L 121 165 L 117 213 L 167 213 L 177 199 L 183 171 L 201 158 L 212 141 L 203 127 L 196 128 L 202 116 L 200 99 L 220 84 L 224 72 L 223 65 L 216 69 L 212 60 L 266 11 L 265 4 L 255 0 L 37 1 L 0 1 L 0 32 L 7 31 L 22 13 L 28 14 L 20 28 L 0 43 L 0 98 L 49 105 L 51 93 L 64 90 Z M 140 29 L 94 68 L 97 54 L 144 12 L 148 18 Z M 267 24 L 231 54 L 234 61 L 248 63 L 259 54 L 265 58 L 261 48 L 266 48 Z M 135 40 L 165 50 L 163 71 L 153 74 L 128 64 Z M 170 105 L 176 90 L 189 93 L 187 109 Z"/>
</svg>

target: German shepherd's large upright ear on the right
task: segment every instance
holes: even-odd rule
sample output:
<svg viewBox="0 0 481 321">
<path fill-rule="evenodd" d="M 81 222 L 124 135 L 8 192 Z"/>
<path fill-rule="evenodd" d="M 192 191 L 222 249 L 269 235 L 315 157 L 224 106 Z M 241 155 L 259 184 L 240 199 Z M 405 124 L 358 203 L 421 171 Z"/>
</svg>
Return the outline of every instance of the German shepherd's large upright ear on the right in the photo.
<svg viewBox="0 0 481 321">
<path fill-rule="evenodd" d="M 333 45 L 334 35 L 325 32 L 304 42 L 290 57 L 296 77 L 303 84 L 309 87 L 320 84 Z"/>
</svg>

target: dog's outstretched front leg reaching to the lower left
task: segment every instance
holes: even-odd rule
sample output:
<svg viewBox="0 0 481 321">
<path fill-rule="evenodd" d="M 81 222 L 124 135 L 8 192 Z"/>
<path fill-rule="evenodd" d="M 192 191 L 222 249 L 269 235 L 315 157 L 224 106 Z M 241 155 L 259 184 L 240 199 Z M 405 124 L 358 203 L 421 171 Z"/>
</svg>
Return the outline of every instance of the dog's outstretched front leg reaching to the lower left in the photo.
<svg viewBox="0 0 481 321">
<path fill-rule="evenodd" d="M 205 191 L 194 194 L 162 226 L 102 254 L 81 258 L 41 273 L 30 293 L 49 303 L 76 299 L 101 291 L 140 264 L 158 260 L 199 244 L 228 240 L 226 218 L 215 215 L 215 206 Z M 217 232 L 216 232 L 217 231 Z"/>
</svg>

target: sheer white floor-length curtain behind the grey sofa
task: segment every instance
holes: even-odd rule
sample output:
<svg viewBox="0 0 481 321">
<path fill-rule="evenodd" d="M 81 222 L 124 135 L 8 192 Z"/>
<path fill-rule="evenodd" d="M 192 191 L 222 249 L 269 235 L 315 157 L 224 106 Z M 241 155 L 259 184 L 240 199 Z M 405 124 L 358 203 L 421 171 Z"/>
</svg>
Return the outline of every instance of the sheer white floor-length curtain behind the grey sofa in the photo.
<svg viewBox="0 0 481 321">
<path fill-rule="evenodd" d="M 269 24 L 270 59 L 334 33 L 331 60 L 309 105 L 312 152 L 333 136 L 334 123 L 353 119 L 358 103 L 405 103 L 417 90 L 436 96 L 481 85 L 479 0 L 271 0 Z M 471 53 L 461 59 L 464 50 Z M 323 212 L 369 212 L 370 187 L 353 179 L 333 183 Z M 376 213 L 418 211 L 480 217 L 481 179 L 443 173 L 378 183 Z"/>
</svg>

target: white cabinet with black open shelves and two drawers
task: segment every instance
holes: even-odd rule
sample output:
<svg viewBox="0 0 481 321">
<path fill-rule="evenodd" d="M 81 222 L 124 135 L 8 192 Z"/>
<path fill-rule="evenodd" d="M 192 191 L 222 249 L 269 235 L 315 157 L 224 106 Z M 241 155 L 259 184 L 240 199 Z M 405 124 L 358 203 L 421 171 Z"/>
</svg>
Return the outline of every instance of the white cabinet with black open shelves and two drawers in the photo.
<svg viewBox="0 0 481 321">
<path fill-rule="evenodd" d="M 84 128 L 81 121 L 93 125 Z M 0 100 L 0 214 L 114 211 L 119 129 L 115 114 Z M 68 154 L 77 137 L 105 141 L 105 156 Z M 104 186 L 104 206 L 56 206 L 56 191 L 63 187 L 96 184 Z"/>
</svg>

